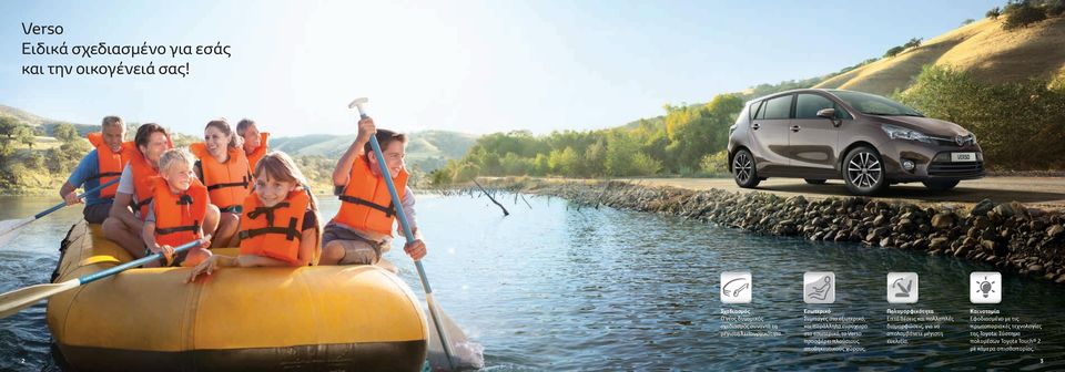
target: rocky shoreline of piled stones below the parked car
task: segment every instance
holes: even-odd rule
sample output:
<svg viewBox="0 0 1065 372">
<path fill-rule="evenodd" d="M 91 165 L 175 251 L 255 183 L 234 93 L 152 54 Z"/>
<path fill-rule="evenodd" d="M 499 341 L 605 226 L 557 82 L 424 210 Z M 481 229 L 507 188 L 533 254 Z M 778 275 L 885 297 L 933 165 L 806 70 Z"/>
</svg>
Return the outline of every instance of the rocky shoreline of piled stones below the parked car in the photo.
<svg viewBox="0 0 1065 372">
<path fill-rule="evenodd" d="M 808 200 L 768 193 L 649 187 L 627 182 L 489 180 L 510 192 L 557 196 L 580 206 L 657 213 L 755 234 L 951 255 L 1065 283 L 1065 210 L 984 199 L 972 209 L 863 197 Z"/>
</svg>

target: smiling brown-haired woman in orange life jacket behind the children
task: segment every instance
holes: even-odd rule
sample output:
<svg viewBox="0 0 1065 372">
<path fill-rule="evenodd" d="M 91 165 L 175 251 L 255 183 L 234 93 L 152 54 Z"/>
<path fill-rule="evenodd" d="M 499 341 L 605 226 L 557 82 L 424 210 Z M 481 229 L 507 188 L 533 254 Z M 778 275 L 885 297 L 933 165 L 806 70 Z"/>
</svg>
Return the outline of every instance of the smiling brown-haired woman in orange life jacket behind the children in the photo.
<svg viewBox="0 0 1065 372">
<path fill-rule="evenodd" d="M 207 186 L 211 204 L 219 207 L 219 228 L 213 248 L 232 247 L 241 219 L 241 204 L 252 186 L 247 157 L 240 140 L 224 118 L 211 121 L 203 128 L 203 142 L 189 145 L 197 158 L 196 177 Z"/>
</svg>

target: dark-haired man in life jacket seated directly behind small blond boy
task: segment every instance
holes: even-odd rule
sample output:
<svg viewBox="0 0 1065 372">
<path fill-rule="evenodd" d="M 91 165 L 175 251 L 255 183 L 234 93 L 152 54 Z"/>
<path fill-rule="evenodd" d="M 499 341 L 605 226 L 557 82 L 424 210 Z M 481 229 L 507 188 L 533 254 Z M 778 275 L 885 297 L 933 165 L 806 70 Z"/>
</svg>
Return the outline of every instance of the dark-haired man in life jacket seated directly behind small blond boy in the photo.
<svg viewBox="0 0 1065 372">
<path fill-rule="evenodd" d="M 144 218 L 153 197 L 154 177 L 159 176 L 159 157 L 173 147 L 166 130 L 155 123 L 141 125 L 133 138 L 133 146 L 124 154 L 129 164 L 119 177 L 111 213 L 103 221 L 103 236 L 130 252 L 133 258 L 144 257 Z M 203 230 L 213 235 L 219 227 L 219 208 L 207 206 Z"/>
</svg>

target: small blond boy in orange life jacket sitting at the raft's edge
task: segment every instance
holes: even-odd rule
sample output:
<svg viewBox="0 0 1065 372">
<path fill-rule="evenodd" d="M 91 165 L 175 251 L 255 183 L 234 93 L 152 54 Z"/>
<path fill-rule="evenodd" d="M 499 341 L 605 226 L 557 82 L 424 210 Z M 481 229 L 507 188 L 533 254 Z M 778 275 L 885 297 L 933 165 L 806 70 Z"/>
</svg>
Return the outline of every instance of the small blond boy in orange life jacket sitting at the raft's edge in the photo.
<svg viewBox="0 0 1065 372">
<path fill-rule="evenodd" d="M 152 177 L 152 202 L 144 218 L 144 255 L 162 252 L 164 260 L 145 264 L 156 266 L 195 266 L 211 257 L 200 247 L 174 257 L 174 247 L 203 239 L 203 223 L 207 214 L 207 188 L 192 172 L 192 154 L 179 148 L 168 149 L 159 157 L 159 176 Z"/>
</svg>

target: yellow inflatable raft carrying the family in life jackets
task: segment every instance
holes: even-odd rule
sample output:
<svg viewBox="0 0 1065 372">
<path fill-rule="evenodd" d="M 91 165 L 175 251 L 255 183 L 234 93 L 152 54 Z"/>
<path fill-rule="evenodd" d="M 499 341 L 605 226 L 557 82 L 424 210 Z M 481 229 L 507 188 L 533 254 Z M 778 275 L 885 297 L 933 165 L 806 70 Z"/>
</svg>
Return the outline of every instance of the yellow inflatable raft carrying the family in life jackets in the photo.
<svg viewBox="0 0 1065 372">
<path fill-rule="evenodd" d="M 131 257 L 74 225 L 52 281 Z M 235 249 L 215 250 L 234 255 Z M 52 297 L 48 327 L 79 371 L 417 371 L 428 329 L 398 277 L 372 266 L 130 269 Z"/>
</svg>

